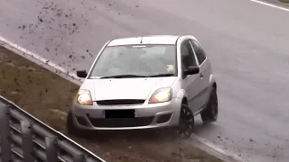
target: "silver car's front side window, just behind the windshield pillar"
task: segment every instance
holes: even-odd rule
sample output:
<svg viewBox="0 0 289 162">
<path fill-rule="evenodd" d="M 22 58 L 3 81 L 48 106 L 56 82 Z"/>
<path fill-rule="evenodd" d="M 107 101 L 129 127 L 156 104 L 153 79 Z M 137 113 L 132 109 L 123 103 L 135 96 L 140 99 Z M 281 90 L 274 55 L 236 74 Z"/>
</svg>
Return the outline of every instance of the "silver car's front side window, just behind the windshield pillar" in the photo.
<svg viewBox="0 0 289 162">
<path fill-rule="evenodd" d="M 182 42 L 181 45 L 181 56 L 182 56 L 182 70 L 188 69 L 188 67 L 197 66 L 196 59 L 191 49 L 189 40 Z"/>
</svg>

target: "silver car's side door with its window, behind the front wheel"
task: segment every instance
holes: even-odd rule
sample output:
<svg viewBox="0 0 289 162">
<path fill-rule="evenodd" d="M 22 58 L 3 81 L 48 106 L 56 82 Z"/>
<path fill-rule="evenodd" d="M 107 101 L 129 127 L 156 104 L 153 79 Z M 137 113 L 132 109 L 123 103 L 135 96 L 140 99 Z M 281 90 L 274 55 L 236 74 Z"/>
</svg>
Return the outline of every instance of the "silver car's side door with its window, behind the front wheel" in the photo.
<svg viewBox="0 0 289 162">
<path fill-rule="evenodd" d="M 190 40 L 183 40 L 181 44 L 181 57 L 182 71 L 185 71 L 191 66 L 198 66 Z M 201 80 L 199 74 L 182 76 L 182 89 L 186 91 L 189 107 L 192 112 L 196 112 L 200 109 L 200 99 L 198 99 L 198 94 L 200 94 L 202 90 L 200 85 Z"/>
</svg>

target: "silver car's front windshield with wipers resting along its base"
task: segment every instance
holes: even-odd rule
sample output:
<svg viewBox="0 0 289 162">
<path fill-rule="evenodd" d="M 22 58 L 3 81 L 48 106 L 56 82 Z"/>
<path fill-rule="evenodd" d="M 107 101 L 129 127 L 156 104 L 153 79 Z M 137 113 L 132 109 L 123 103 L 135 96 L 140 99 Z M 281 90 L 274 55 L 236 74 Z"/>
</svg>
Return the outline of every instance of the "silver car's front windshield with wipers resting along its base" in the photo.
<svg viewBox="0 0 289 162">
<path fill-rule="evenodd" d="M 126 45 L 104 49 L 89 77 L 174 76 L 175 73 L 174 45 Z"/>
</svg>

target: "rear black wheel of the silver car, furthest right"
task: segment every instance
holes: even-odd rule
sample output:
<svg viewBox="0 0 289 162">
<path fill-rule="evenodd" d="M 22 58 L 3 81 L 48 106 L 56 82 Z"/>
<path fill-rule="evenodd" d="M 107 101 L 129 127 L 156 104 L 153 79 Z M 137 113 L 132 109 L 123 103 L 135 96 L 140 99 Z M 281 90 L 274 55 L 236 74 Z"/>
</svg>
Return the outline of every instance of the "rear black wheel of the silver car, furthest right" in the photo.
<svg viewBox="0 0 289 162">
<path fill-rule="evenodd" d="M 215 87 L 213 87 L 213 89 L 210 93 L 209 103 L 207 104 L 205 110 L 200 112 L 201 120 L 204 123 L 217 121 L 218 112 L 219 112 L 218 106 L 219 106 L 219 104 L 218 104 L 217 90 Z"/>
</svg>

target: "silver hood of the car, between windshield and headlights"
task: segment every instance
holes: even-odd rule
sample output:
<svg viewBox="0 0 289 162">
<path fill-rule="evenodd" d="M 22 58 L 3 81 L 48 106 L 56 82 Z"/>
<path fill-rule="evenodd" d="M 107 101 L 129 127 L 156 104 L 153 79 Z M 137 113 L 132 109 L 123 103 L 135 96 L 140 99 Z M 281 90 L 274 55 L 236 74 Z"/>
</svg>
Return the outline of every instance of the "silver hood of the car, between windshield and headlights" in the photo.
<svg viewBox="0 0 289 162">
<path fill-rule="evenodd" d="M 146 99 L 159 87 L 171 86 L 176 76 L 141 78 L 88 79 L 87 85 L 95 101 L 113 99 Z M 93 89 L 92 89 L 93 87 Z"/>
</svg>

